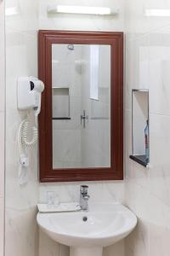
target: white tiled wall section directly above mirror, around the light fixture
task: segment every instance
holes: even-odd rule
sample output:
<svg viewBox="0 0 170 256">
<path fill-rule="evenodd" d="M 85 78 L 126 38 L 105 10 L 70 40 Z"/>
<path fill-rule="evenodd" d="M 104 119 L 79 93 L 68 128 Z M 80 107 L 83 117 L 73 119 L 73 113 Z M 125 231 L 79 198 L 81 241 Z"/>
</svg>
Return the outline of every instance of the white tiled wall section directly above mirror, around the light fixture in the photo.
<svg viewBox="0 0 170 256">
<path fill-rule="evenodd" d="M 114 18 L 105 18 L 89 15 L 57 15 L 49 16 L 47 14 L 48 4 L 64 5 L 86 5 L 103 6 L 120 9 L 120 15 Z M 124 26 L 124 0 L 39 0 L 39 27 L 41 29 L 54 30 L 87 30 L 87 31 L 122 31 Z"/>
</svg>

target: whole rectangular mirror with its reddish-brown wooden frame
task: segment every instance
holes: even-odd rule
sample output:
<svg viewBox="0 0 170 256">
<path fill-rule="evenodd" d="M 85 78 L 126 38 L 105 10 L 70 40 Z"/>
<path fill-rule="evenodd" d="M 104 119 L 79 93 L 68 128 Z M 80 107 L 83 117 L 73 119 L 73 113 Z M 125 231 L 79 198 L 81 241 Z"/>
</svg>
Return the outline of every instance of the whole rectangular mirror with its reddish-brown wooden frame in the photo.
<svg viewBox="0 0 170 256">
<path fill-rule="evenodd" d="M 122 179 L 122 32 L 39 32 L 40 180 Z"/>
</svg>

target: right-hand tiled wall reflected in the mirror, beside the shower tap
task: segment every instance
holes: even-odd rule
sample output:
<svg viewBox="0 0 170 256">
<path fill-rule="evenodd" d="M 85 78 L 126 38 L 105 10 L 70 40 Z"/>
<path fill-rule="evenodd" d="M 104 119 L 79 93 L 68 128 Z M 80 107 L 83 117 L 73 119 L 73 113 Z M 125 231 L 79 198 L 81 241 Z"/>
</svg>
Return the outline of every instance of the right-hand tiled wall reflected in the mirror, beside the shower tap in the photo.
<svg viewBox="0 0 170 256">
<path fill-rule="evenodd" d="M 88 115 L 86 127 L 84 129 L 82 126 L 81 132 L 82 166 L 108 167 L 111 166 L 111 80 L 108 79 L 111 78 L 111 63 L 108 63 L 111 59 L 111 47 L 99 46 L 97 101 L 90 95 L 92 84 L 94 85 L 97 79 L 95 71 L 91 73 L 91 50 L 91 46 L 88 46 L 83 47 L 82 51 L 83 60 L 87 63 L 82 73 L 82 109 L 85 109 Z"/>
</svg>

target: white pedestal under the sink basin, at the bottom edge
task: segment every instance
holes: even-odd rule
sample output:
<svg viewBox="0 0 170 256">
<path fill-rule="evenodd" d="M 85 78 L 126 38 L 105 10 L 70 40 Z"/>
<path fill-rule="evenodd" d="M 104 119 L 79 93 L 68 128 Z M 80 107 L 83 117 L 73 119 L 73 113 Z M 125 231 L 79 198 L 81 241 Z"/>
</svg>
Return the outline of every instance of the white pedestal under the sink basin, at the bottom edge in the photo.
<svg viewBox="0 0 170 256">
<path fill-rule="evenodd" d="M 102 256 L 103 247 L 71 247 L 70 256 Z"/>
</svg>

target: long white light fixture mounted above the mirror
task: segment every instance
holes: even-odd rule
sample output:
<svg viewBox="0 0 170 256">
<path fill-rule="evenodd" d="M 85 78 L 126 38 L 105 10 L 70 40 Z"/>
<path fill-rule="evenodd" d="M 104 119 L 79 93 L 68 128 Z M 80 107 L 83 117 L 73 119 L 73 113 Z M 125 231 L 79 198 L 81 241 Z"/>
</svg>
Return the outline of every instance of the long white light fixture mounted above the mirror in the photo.
<svg viewBox="0 0 170 256">
<path fill-rule="evenodd" d="M 118 9 L 107 7 L 73 6 L 73 5 L 50 5 L 48 14 L 78 14 L 78 15 L 117 15 Z"/>
</svg>

